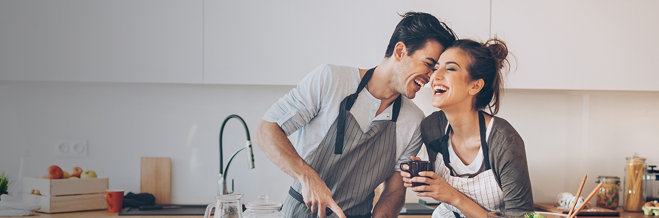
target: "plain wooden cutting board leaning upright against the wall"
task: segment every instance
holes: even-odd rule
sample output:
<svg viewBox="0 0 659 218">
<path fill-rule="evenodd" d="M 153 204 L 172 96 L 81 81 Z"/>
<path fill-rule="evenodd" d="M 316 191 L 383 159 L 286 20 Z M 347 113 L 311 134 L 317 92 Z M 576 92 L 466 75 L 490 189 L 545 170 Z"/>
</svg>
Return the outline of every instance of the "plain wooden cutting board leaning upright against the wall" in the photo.
<svg viewBox="0 0 659 218">
<path fill-rule="evenodd" d="M 156 197 L 156 204 L 169 204 L 171 198 L 171 158 L 142 157 L 140 192 Z"/>
</svg>

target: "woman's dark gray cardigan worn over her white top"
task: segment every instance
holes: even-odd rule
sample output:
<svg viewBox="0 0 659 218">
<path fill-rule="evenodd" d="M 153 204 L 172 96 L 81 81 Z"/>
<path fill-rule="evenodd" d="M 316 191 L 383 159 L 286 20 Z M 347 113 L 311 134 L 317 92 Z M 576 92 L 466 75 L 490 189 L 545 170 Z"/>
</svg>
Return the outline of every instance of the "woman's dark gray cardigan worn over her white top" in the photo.
<svg viewBox="0 0 659 218">
<path fill-rule="evenodd" d="M 533 194 L 529 178 L 529 167 L 524 142 L 515 128 L 500 117 L 492 117 L 494 122 L 488 138 L 490 166 L 494 177 L 503 191 L 501 207 L 505 211 L 533 211 Z M 448 121 L 444 111 L 436 111 L 421 122 L 421 137 L 428 145 L 442 138 Z M 430 161 L 436 161 L 437 153 L 426 146 Z M 474 175 L 478 175 L 484 171 Z"/>
</svg>

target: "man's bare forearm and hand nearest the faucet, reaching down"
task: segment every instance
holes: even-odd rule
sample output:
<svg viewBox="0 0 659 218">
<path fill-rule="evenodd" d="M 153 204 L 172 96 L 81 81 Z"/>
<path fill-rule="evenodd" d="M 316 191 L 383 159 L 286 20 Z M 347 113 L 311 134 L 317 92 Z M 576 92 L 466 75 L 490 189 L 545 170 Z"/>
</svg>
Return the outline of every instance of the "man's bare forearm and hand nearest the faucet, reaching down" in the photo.
<svg viewBox="0 0 659 218">
<path fill-rule="evenodd" d="M 256 144 L 266 153 L 268 159 L 302 184 L 301 194 L 306 207 L 314 213 L 317 212 L 318 217 L 325 217 L 325 207 L 329 207 L 339 217 L 345 218 L 341 207 L 332 199 L 328 186 L 295 151 L 291 140 L 286 137 L 279 124 L 261 121 L 254 136 Z M 398 180 L 402 181 L 401 178 Z"/>
</svg>

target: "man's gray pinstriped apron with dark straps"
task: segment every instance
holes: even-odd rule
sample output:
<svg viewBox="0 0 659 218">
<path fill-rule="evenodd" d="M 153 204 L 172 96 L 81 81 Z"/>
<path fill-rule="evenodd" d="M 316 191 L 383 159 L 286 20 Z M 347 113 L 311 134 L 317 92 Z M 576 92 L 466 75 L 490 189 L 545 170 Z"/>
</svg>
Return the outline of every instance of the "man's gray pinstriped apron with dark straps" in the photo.
<svg viewBox="0 0 659 218">
<path fill-rule="evenodd" d="M 393 174 L 397 160 L 396 119 L 401 107 L 401 96 L 393 103 L 391 121 L 375 124 L 363 132 L 350 109 L 373 74 L 372 68 L 364 74 L 357 92 L 341 101 L 339 116 L 330 126 L 318 149 L 306 157 L 308 163 L 331 190 L 332 198 L 347 217 L 371 217 L 375 188 Z M 282 211 L 286 217 L 318 217 L 304 205 L 302 186 L 294 180 L 291 194 Z M 331 210 L 326 209 L 331 212 Z M 327 213 L 329 217 L 329 213 Z M 332 214 L 332 217 L 336 217 Z"/>
</svg>

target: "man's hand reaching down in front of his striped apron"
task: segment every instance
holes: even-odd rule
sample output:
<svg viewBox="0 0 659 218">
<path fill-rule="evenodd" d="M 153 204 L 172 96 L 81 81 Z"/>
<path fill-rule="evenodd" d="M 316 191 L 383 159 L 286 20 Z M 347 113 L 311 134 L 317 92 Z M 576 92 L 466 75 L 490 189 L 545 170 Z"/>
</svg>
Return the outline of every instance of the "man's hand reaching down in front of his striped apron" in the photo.
<svg viewBox="0 0 659 218">
<path fill-rule="evenodd" d="M 302 184 L 302 198 L 304 204 L 312 212 L 318 213 L 318 217 L 326 217 L 325 208 L 331 209 L 340 218 L 345 218 L 343 210 L 334 202 L 331 197 L 331 191 L 323 180 L 320 178 L 308 180 Z"/>
</svg>

